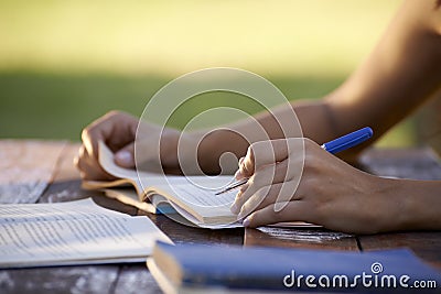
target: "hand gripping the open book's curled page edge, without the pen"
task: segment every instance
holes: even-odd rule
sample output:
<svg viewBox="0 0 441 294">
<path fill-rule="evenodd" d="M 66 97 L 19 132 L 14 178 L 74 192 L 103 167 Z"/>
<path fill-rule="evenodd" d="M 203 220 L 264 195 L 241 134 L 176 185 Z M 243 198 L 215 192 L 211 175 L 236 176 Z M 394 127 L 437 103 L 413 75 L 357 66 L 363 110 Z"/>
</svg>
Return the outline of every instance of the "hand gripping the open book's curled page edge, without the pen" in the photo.
<svg viewBox="0 0 441 294">
<path fill-rule="evenodd" d="M 120 111 L 111 111 L 90 123 L 83 130 L 83 145 L 79 148 L 75 165 L 85 179 L 114 179 L 98 163 L 98 142 L 105 142 L 115 152 L 115 163 L 126 167 L 135 167 L 135 138 L 139 119 Z M 158 156 L 154 148 L 161 140 L 161 164 L 164 170 L 175 172 L 178 164 L 178 142 L 180 132 L 173 129 L 162 129 L 154 124 L 142 122 L 142 133 L 139 142 L 146 146 L 143 160 Z M 137 146 L 138 148 L 138 146 Z"/>
</svg>

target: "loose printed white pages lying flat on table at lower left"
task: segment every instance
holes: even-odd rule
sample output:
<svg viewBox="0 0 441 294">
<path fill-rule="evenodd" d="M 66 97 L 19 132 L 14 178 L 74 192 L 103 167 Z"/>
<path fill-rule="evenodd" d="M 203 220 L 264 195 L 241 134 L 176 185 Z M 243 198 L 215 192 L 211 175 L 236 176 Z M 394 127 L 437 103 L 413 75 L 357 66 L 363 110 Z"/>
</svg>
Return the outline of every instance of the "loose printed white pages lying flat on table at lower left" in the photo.
<svg viewBox="0 0 441 294">
<path fill-rule="evenodd" d="M 171 242 L 149 218 L 99 207 L 90 198 L 0 206 L 0 268 L 97 259 L 142 261 L 155 240 Z"/>
</svg>

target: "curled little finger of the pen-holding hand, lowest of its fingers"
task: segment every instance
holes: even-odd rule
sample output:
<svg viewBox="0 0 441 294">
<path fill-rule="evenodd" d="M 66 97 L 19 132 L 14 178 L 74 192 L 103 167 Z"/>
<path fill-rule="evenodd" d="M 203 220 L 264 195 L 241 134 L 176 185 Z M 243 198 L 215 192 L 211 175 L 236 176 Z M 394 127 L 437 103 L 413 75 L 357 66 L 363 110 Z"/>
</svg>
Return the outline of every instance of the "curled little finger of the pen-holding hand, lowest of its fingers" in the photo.
<svg viewBox="0 0 441 294">
<path fill-rule="evenodd" d="M 273 205 L 257 210 L 249 215 L 243 224 L 244 227 L 256 228 L 284 221 L 311 222 L 311 219 L 314 218 L 313 214 L 314 207 L 312 207 L 311 203 L 293 200 L 288 203 L 280 211 L 276 211 Z"/>
</svg>

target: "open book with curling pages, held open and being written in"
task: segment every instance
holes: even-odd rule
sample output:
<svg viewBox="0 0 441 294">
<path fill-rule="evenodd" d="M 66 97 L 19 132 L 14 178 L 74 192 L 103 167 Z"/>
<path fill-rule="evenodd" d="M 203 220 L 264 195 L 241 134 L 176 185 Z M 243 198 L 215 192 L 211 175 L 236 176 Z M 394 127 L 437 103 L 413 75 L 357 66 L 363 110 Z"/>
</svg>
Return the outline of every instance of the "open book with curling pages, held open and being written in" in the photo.
<svg viewBox="0 0 441 294">
<path fill-rule="evenodd" d="M 85 181 L 84 188 L 103 189 L 109 197 L 150 213 L 172 209 L 176 214 L 171 217 L 189 226 L 212 229 L 241 226 L 237 222 L 236 215 L 229 210 L 236 192 L 215 195 L 234 179 L 233 176 L 165 176 L 152 172 L 137 173 L 135 170 L 116 165 L 114 154 L 103 142 L 99 142 L 99 163 L 107 173 L 119 179 Z M 120 188 L 125 186 L 132 186 L 136 192 Z"/>
</svg>

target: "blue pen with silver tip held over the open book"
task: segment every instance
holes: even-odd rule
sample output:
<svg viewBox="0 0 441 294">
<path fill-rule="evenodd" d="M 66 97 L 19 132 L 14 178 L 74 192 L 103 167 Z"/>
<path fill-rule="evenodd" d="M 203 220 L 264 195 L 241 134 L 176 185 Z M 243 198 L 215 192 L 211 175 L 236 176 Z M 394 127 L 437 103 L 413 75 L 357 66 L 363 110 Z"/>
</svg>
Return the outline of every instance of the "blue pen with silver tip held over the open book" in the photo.
<svg viewBox="0 0 441 294">
<path fill-rule="evenodd" d="M 344 151 L 346 149 L 349 149 L 352 146 L 363 143 L 364 141 L 366 141 L 367 139 L 373 137 L 373 134 L 374 134 L 373 130 L 369 127 L 366 127 L 358 131 L 345 134 L 341 138 L 337 138 L 327 143 L 324 143 L 321 145 L 321 148 L 323 148 L 324 150 L 326 150 L 327 152 L 330 152 L 332 154 L 335 154 L 337 152 Z M 233 183 L 232 185 L 227 186 L 223 190 L 217 192 L 215 195 L 224 194 L 228 190 L 240 187 L 241 185 L 245 185 L 247 182 L 248 182 L 247 177 L 239 179 L 239 181 Z"/>
</svg>

